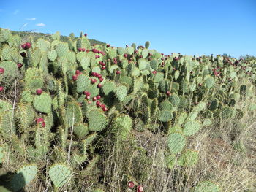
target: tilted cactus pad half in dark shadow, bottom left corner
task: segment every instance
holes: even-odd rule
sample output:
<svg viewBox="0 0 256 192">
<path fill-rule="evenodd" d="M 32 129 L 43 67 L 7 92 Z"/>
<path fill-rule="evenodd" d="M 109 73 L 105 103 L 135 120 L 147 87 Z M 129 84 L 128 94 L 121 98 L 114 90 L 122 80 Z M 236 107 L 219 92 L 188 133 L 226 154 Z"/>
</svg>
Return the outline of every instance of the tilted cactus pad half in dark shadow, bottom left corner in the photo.
<svg viewBox="0 0 256 192">
<path fill-rule="evenodd" d="M 30 164 L 21 167 L 18 169 L 15 175 L 12 176 L 10 183 L 7 185 L 10 185 L 10 188 L 12 191 L 19 191 L 25 185 L 28 185 L 37 175 L 37 165 L 36 164 Z"/>
</svg>

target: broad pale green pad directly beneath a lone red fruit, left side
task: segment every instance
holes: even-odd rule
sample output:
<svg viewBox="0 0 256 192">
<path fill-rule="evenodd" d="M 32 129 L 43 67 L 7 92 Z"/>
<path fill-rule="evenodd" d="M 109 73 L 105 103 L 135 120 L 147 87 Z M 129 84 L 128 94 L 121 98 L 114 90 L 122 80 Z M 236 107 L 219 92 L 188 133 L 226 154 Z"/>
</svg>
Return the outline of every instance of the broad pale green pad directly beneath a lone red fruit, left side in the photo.
<svg viewBox="0 0 256 192">
<path fill-rule="evenodd" d="M 51 112 L 52 99 L 48 93 L 42 93 L 39 96 L 34 96 L 33 105 L 39 112 L 50 113 Z"/>
</svg>

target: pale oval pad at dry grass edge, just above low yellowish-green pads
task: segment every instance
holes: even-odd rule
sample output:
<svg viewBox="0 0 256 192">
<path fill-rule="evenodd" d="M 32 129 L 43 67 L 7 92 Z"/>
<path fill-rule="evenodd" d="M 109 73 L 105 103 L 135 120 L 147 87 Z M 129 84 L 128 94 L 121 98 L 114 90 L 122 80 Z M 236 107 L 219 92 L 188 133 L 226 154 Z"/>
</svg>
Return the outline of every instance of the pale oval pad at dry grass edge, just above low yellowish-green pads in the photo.
<svg viewBox="0 0 256 192">
<path fill-rule="evenodd" d="M 167 145 L 171 153 L 180 153 L 186 145 L 186 139 L 179 133 L 169 134 L 167 137 Z"/>
</svg>

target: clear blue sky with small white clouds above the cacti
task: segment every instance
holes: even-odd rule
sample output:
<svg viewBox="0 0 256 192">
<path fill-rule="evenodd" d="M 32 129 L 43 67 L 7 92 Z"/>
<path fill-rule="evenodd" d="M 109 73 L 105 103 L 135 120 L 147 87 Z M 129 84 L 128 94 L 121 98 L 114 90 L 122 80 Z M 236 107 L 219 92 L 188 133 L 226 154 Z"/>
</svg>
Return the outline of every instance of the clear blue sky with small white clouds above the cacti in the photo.
<svg viewBox="0 0 256 192">
<path fill-rule="evenodd" d="M 256 0 L 0 1 L 0 27 L 15 31 L 83 31 L 117 47 L 150 41 L 166 55 L 256 55 Z"/>
</svg>

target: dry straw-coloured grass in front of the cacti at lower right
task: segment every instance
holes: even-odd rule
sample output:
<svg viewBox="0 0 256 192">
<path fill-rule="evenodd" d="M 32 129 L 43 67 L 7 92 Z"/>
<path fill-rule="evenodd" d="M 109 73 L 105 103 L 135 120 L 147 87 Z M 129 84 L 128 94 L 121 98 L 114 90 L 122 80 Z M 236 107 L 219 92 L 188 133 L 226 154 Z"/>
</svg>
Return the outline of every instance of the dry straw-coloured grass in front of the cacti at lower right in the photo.
<svg viewBox="0 0 256 192">
<path fill-rule="evenodd" d="M 192 191 L 210 180 L 223 192 L 256 191 L 256 113 L 249 112 L 251 98 L 237 104 L 240 120 L 214 122 L 190 137 L 187 148 L 199 151 L 196 166 L 165 166 L 166 135 L 133 131 L 123 144 L 108 143 L 103 164 L 106 191 L 127 191 L 127 181 L 146 191 Z"/>
</svg>

